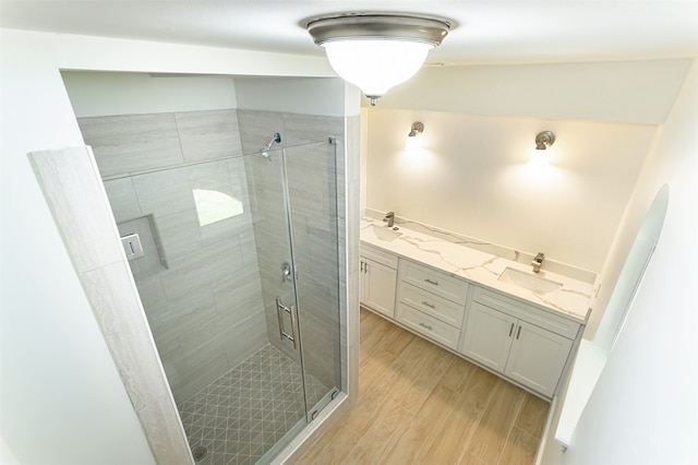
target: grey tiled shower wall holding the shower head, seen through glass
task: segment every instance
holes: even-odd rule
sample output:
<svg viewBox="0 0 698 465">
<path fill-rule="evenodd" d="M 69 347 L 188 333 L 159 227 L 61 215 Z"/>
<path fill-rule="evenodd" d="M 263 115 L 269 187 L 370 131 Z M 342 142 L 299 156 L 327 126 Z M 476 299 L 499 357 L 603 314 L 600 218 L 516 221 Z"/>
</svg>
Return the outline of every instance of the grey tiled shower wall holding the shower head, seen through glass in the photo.
<svg viewBox="0 0 698 465">
<path fill-rule="evenodd" d="M 258 152 L 269 130 L 284 134 L 304 367 L 327 388 L 339 388 L 338 294 L 344 277 L 338 270 L 337 208 L 344 205 L 344 193 L 337 183 L 344 176 L 344 118 L 252 110 L 238 110 L 238 116 L 244 153 Z M 276 312 L 276 297 L 288 301 L 290 293 L 280 278 L 288 238 L 278 220 L 285 217 L 278 175 L 263 158 L 248 162 L 248 179 L 257 181 L 250 189 L 258 206 L 253 222 L 269 341 L 296 358 L 292 345 L 279 338 Z M 290 322 L 286 324 L 288 330 Z"/>
</svg>

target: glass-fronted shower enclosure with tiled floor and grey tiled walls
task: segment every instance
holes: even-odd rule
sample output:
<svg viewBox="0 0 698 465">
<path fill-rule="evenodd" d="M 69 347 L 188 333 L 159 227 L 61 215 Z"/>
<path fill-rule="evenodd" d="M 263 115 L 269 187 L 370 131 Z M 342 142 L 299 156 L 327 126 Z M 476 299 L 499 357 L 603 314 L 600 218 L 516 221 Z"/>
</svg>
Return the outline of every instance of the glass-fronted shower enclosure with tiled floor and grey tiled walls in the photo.
<svg viewBox="0 0 698 465">
<path fill-rule="evenodd" d="M 128 174 L 98 145 L 194 461 L 268 462 L 341 386 L 335 140 Z"/>
</svg>

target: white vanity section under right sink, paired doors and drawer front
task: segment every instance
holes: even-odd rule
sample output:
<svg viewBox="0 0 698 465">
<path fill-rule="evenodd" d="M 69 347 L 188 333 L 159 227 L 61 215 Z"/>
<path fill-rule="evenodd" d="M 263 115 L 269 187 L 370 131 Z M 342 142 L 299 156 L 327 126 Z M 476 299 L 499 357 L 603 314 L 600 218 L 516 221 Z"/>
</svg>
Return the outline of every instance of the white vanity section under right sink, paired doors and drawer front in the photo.
<svg viewBox="0 0 698 465">
<path fill-rule="evenodd" d="M 580 324 L 473 286 L 460 353 L 552 397 Z"/>
</svg>

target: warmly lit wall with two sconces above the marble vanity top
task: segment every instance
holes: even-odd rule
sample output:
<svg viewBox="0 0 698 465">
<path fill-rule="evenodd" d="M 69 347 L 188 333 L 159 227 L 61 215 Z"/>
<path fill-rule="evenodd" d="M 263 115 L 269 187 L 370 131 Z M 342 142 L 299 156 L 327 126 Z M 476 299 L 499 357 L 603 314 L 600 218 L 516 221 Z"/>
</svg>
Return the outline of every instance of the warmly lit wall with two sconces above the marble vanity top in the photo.
<svg viewBox="0 0 698 465">
<path fill-rule="evenodd" d="M 655 127 L 368 110 L 366 206 L 599 272 Z M 413 121 L 424 133 L 406 148 Z M 551 130 L 550 165 L 528 165 Z"/>
</svg>

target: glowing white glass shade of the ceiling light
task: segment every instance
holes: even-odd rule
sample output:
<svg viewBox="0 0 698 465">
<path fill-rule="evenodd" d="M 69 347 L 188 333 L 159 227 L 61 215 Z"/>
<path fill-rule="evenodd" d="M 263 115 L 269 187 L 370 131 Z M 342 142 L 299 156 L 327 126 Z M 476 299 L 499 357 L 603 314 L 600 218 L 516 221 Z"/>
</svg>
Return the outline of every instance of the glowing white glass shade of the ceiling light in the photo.
<svg viewBox="0 0 698 465">
<path fill-rule="evenodd" d="M 333 69 L 371 98 L 412 78 L 422 67 L 430 44 L 409 40 L 336 40 L 323 44 Z"/>
</svg>

